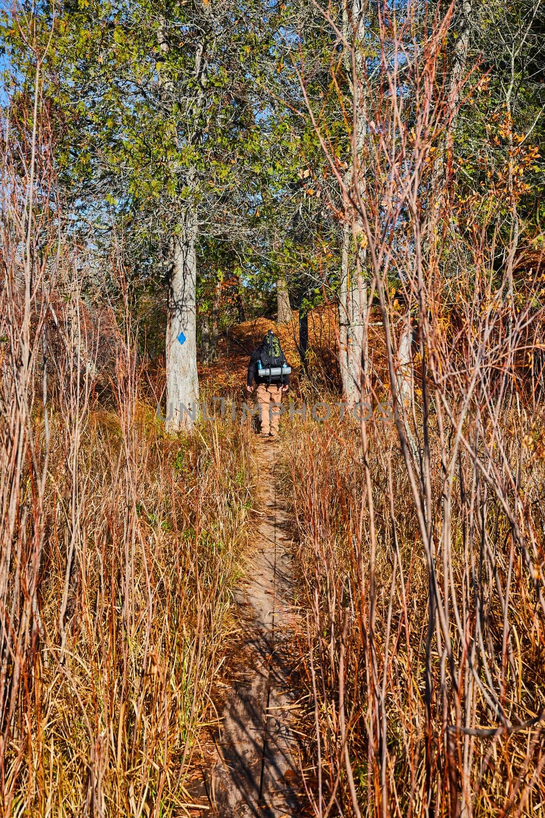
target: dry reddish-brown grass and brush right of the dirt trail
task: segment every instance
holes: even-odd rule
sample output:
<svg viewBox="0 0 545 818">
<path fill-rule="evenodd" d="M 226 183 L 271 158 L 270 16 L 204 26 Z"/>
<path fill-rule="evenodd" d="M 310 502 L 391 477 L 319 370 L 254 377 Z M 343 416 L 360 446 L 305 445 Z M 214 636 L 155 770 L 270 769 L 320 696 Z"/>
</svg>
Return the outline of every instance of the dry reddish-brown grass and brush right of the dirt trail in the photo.
<svg viewBox="0 0 545 818">
<path fill-rule="evenodd" d="M 514 412 L 506 416 L 517 434 L 504 445 L 520 465 L 513 494 L 542 553 L 545 464 L 535 420 L 524 428 Z M 315 722 L 307 776 L 315 813 L 352 815 L 357 803 L 361 815 L 456 814 L 453 801 L 464 799 L 474 815 L 538 814 L 538 569 L 529 572 L 512 520 L 467 452 L 458 452 L 445 517 L 441 445 L 432 438 L 430 570 L 395 429 L 377 412 L 367 426 L 369 480 L 361 430 L 348 418 L 297 429 L 284 465 L 299 601 L 310 611 L 301 649 Z M 434 581 L 440 600 L 430 603 Z"/>
</svg>

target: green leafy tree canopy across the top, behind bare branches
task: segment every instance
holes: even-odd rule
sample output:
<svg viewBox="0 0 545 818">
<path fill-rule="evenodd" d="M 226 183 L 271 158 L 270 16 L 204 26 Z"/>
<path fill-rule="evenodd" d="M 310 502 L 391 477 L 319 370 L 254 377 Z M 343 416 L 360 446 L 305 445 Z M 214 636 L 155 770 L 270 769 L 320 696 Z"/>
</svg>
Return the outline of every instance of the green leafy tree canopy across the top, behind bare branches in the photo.
<svg viewBox="0 0 545 818">
<path fill-rule="evenodd" d="M 380 52 L 375 12 L 369 7 L 362 43 L 371 67 Z M 329 13 L 341 25 L 342 4 Z M 395 13 L 401 20 L 404 8 Z M 457 14 L 438 83 L 452 70 Z M 543 11 L 519 0 L 474 7 L 471 15 L 471 76 L 453 128 L 456 229 L 500 218 L 507 240 L 516 206 L 537 237 L 544 215 Z M 28 128 L 38 53 L 72 229 L 99 258 L 113 236 L 123 236 L 116 247 L 131 268 L 135 303 L 157 303 L 147 335 L 164 322 L 158 285 L 188 207 L 198 219 L 200 312 L 215 308 L 220 285 L 221 321 L 240 318 L 242 294 L 261 307 L 279 277 L 304 310 L 324 294 L 335 298 L 342 200 L 306 106 L 345 169 L 351 71 L 332 25 L 310 0 L 66 0 L 55 17 L 51 3 L 41 3 L 29 23 L 34 50 L 20 20 L 2 16 L 11 128 Z M 405 111 L 410 118 L 410 98 Z M 369 150 L 373 139 L 369 134 Z M 447 242 L 445 267 L 448 253 Z"/>
</svg>

